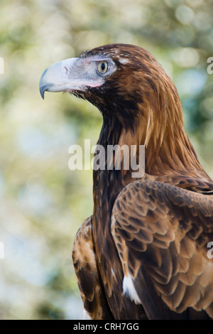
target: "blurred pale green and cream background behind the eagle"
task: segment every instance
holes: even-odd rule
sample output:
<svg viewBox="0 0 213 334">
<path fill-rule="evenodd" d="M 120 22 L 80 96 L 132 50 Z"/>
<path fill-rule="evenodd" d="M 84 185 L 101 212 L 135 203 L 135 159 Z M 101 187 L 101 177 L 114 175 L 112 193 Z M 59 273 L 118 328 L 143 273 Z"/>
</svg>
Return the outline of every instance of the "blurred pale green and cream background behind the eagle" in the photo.
<svg viewBox="0 0 213 334">
<path fill-rule="evenodd" d="M 102 117 L 61 93 L 41 99 L 43 70 L 107 43 L 149 50 L 178 87 L 185 127 L 213 177 L 212 0 L 1 0 L 1 319 L 78 319 L 72 243 L 92 214 L 92 171 L 70 171 L 68 148 Z"/>
</svg>

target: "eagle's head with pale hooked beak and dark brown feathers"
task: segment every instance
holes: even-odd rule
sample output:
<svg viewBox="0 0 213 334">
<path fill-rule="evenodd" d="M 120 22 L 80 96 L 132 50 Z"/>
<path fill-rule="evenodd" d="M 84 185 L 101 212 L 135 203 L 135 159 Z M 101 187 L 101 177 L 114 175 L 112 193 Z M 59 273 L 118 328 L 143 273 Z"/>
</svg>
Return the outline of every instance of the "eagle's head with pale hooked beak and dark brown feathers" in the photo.
<svg viewBox="0 0 213 334">
<path fill-rule="evenodd" d="M 45 91 L 87 99 L 104 118 L 116 117 L 127 127 L 141 116 L 146 125 L 153 110 L 160 117 L 171 96 L 179 101 L 173 82 L 153 55 L 128 44 L 100 46 L 50 65 L 40 78 L 42 97 Z"/>
</svg>

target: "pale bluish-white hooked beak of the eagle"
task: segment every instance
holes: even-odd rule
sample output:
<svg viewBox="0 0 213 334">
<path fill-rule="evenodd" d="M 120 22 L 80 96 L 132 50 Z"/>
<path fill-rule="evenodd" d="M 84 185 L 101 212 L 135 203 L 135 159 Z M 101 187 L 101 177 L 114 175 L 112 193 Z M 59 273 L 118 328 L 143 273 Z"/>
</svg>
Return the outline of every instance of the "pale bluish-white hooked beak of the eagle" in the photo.
<svg viewBox="0 0 213 334">
<path fill-rule="evenodd" d="M 48 92 L 67 92 L 80 88 L 80 82 L 70 77 L 70 72 L 75 65 L 77 58 L 69 58 L 54 63 L 45 69 L 40 77 L 40 95 L 44 99 L 45 91 Z"/>
</svg>

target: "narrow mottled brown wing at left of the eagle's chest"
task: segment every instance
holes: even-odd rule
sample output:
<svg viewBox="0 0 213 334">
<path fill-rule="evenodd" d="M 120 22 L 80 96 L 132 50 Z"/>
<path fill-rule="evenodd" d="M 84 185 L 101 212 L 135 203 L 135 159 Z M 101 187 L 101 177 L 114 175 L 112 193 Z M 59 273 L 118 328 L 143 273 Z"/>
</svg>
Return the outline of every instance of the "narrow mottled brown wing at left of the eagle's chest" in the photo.
<svg viewBox="0 0 213 334">
<path fill-rule="evenodd" d="M 84 310 L 93 320 L 111 319 L 111 311 L 97 269 L 97 256 L 92 239 L 92 216 L 83 222 L 75 236 L 72 260 Z"/>
</svg>

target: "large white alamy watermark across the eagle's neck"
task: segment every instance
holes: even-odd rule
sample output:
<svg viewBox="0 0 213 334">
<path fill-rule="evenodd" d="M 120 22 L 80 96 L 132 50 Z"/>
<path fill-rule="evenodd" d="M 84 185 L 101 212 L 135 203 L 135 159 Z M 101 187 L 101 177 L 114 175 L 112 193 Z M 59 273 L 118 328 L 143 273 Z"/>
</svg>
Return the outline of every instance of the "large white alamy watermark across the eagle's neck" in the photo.
<svg viewBox="0 0 213 334">
<path fill-rule="evenodd" d="M 107 145 L 105 148 L 97 144 L 91 147 L 90 139 L 84 139 L 84 153 L 80 145 L 70 146 L 68 153 L 72 154 L 68 161 L 71 171 L 90 168 L 119 171 L 123 168 L 124 171 L 131 170 L 132 178 L 142 178 L 145 173 L 144 145 Z M 94 154 L 92 161 L 91 154 Z"/>
</svg>

